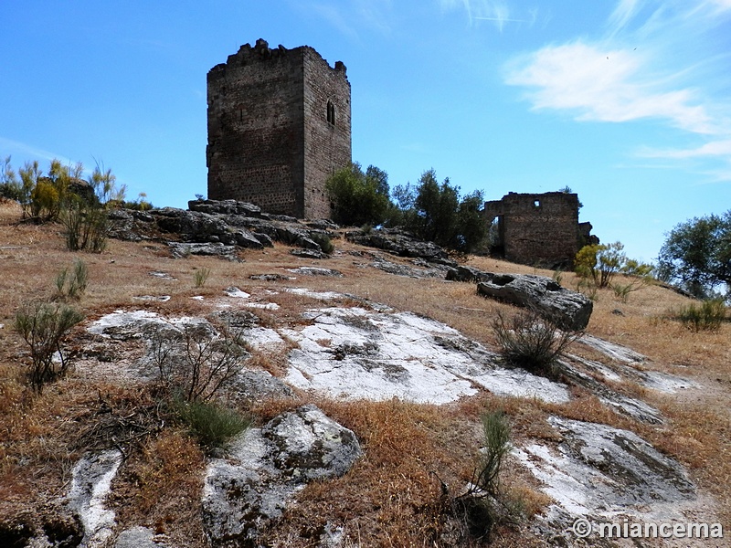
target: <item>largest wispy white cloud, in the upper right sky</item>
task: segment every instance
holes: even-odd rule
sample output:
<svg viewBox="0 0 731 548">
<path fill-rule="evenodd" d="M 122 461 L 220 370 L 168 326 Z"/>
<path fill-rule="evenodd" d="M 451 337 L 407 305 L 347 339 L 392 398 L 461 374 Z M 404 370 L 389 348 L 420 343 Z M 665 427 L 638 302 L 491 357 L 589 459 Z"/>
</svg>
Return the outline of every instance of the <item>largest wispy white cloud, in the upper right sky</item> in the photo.
<svg viewBox="0 0 731 548">
<path fill-rule="evenodd" d="M 567 111 L 579 121 L 656 119 L 686 132 L 725 132 L 717 113 L 726 110 L 726 98 L 714 100 L 694 80 L 694 70 L 707 70 L 709 58 L 686 55 L 677 42 L 678 35 L 702 39 L 709 12 L 698 10 L 709 3 L 731 9 L 731 0 L 696 0 L 675 11 L 657 0 L 619 0 L 608 34 L 514 58 L 505 81 L 524 87 L 534 109 Z"/>
</svg>

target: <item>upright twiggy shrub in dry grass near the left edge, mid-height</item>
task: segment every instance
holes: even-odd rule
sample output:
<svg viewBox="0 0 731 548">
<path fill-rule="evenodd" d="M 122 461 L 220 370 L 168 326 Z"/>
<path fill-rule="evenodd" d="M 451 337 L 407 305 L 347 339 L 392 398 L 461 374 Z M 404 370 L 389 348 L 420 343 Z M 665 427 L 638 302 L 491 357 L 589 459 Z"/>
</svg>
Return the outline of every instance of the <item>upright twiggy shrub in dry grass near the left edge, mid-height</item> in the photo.
<svg viewBox="0 0 731 548">
<path fill-rule="evenodd" d="M 43 385 L 66 374 L 69 358 L 63 342 L 83 315 L 66 304 L 36 302 L 16 312 L 15 330 L 30 347 L 30 385 L 38 393 Z M 58 356 L 58 362 L 54 359 Z"/>
</svg>

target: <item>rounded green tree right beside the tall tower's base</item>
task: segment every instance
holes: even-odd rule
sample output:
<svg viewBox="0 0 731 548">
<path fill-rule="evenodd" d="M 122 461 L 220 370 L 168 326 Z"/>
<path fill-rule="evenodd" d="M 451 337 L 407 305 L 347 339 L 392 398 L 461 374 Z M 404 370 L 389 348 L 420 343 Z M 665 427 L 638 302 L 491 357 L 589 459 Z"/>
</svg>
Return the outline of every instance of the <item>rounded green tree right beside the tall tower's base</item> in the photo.
<svg viewBox="0 0 731 548">
<path fill-rule="evenodd" d="M 333 204 L 333 220 L 341 225 L 380 225 L 387 216 L 388 175 L 360 163 L 352 163 L 335 172 L 325 184 Z"/>
</svg>

